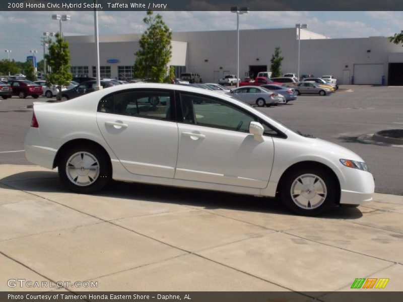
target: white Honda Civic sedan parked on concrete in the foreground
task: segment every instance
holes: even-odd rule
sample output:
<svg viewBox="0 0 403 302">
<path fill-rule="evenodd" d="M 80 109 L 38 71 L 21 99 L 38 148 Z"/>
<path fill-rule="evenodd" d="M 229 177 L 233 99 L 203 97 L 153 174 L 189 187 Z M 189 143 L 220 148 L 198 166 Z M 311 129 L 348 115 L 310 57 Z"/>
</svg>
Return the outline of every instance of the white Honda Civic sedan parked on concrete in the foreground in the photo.
<svg viewBox="0 0 403 302">
<path fill-rule="evenodd" d="M 240 101 L 198 88 L 127 84 L 60 102 L 34 103 L 25 152 L 58 168 L 72 191 L 111 179 L 255 196 L 279 196 L 316 215 L 372 199 L 364 161 L 300 135 Z"/>
</svg>

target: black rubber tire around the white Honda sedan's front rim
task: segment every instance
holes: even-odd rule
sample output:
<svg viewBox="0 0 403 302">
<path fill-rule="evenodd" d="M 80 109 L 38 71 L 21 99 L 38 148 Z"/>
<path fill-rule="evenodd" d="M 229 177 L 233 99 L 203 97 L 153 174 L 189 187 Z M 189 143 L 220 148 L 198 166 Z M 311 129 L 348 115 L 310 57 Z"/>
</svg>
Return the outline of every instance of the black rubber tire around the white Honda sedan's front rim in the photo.
<svg viewBox="0 0 403 302">
<path fill-rule="evenodd" d="M 309 208 L 310 200 L 308 202 L 308 205 L 306 208 L 303 208 L 302 206 L 298 205 L 297 202 L 294 202 L 293 197 L 291 196 L 291 190 L 293 183 L 297 181 L 298 178 L 304 175 L 313 175 L 321 179 L 321 181 L 324 183 L 325 186 L 325 199 L 317 204 L 317 206 L 311 206 Z M 311 177 L 311 176 L 308 176 Z M 315 178 L 316 179 L 316 178 Z M 318 182 L 317 180 L 315 184 Z M 335 196 L 337 196 L 337 191 L 336 191 L 336 186 L 334 185 L 335 183 L 334 177 L 330 175 L 325 169 L 320 168 L 320 167 L 301 167 L 301 168 L 295 168 L 287 173 L 287 175 L 284 176 L 282 179 L 282 183 L 280 184 L 280 198 L 283 202 L 283 204 L 292 210 L 293 212 L 299 214 L 299 215 L 304 215 L 304 216 L 316 216 L 320 213 L 323 213 L 324 211 L 328 210 L 332 206 L 335 206 L 336 200 Z M 319 181 L 320 182 L 320 181 Z M 309 188 L 307 188 L 309 189 Z M 311 192 L 303 192 L 303 194 L 312 194 Z M 299 194 L 302 195 L 302 194 Z M 298 195 L 298 196 L 299 196 Z M 317 196 L 316 196 L 317 195 Z M 295 196 L 295 198 L 298 198 L 298 196 Z M 315 198 L 315 197 L 320 197 L 322 196 L 321 194 L 315 194 L 313 197 L 309 198 Z M 304 197 L 304 196 L 302 196 Z"/>
</svg>

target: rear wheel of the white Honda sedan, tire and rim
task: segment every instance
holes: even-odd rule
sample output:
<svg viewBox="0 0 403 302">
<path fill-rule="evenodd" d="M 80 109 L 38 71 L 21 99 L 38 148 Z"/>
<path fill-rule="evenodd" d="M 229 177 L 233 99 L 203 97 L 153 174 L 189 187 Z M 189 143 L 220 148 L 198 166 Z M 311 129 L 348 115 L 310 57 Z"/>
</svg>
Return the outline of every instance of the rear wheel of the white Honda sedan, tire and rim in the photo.
<svg viewBox="0 0 403 302">
<path fill-rule="evenodd" d="M 92 193 L 102 189 L 111 179 L 107 156 L 91 145 L 66 149 L 58 164 L 63 185 L 77 193 Z"/>
</svg>

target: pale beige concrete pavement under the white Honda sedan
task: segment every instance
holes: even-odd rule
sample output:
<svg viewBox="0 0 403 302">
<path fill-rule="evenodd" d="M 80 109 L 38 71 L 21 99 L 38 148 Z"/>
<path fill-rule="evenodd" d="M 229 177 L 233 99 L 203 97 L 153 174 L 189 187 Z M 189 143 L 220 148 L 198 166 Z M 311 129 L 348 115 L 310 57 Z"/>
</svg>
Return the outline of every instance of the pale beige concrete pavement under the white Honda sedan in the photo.
<svg viewBox="0 0 403 302">
<path fill-rule="evenodd" d="M 335 291 L 373 277 L 403 289 L 403 196 L 301 217 L 271 199 L 144 184 L 79 195 L 55 171 L 14 165 L 0 165 L 0 196 L 2 291 L 45 291 L 10 288 L 11 278 L 110 291 Z"/>
</svg>

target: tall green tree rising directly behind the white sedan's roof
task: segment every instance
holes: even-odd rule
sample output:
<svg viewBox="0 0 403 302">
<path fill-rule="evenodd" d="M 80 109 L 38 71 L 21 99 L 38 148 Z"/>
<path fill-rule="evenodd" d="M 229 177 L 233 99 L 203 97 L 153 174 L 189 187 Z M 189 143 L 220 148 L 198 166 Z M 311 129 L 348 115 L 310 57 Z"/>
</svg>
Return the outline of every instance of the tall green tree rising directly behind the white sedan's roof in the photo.
<svg viewBox="0 0 403 302">
<path fill-rule="evenodd" d="M 175 77 L 174 68 L 168 66 L 172 55 L 172 33 L 160 14 L 153 16 L 152 11 L 147 11 L 143 21 L 148 28 L 140 39 L 140 49 L 135 52 L 135 77 L 170 83 Z"/>
</svg>

